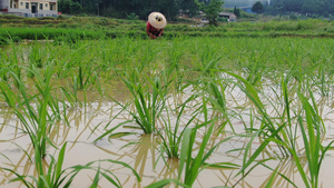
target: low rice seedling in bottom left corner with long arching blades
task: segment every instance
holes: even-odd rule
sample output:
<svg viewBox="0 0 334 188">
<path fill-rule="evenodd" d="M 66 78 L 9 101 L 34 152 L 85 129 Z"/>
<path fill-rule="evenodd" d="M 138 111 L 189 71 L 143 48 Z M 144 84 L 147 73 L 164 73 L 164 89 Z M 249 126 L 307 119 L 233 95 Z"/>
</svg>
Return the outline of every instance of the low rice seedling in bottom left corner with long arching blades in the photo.
<svg viewBox="0 0 334 188">
<path fill-rule="evenodd" d="M 21 181 L 27 188 L 33 188 L 33 187 L 52 187 L 52 188 L 60 188 L 60 187 L 66 187 L 69 188 L 72 186 L 72 181 L 78 176 L 78 174 L 82 170 L 95 170 L 96 176 L 92 179 L 92 182 L 90 187 L 98 187 L 98 181 L 100 180 L 100 176 L 106 178 L 112 186 L 115 187 L 122 187 L 119 179 L 115 176 L 115 174 L 106 168 L 100 168 L 100 165 L 102 162 L 108 162 L 108 164 L 115 164 L 115 165 L 120 165 L 125 168 L 128 168 L 131 170 L 131 172 L 135 175 L 136 179 L 140 181 L 139 175 L 126 162 L 121 161 L 116 161 L 116 160 L 109 160 L 109 159 L 102 159 L 102 160 L 97 160 L 92 162 L 88 162 L 86 165 L 77 165 L 72 167 L 68 167 L 66 169 L 62 168 L 62 164 L 66 160 L 65 158 L 65 152 L 66 152 L 66 146 L 67 142 L 61 147 L 59 154 L 58 154 L 58 159 L 56 159 L 53 156 L 49 155 L 51 161 L 48 165 L 48 167 L 43 168 L 42 171 L 38 171 L 37 177 L 33 176 L 24 176 L 24 175 L 19 175 L 12 169 L 8 168 L 2 168 L 3 170 L 10 171 L 17 176 L 17 178 L 10 180 L 10 182 L 14 181 Z M 36 166 L 43 166 L 42 164 L 45 162 L 43 160 L 36 160 Z M 95 167 L 95 164 L 99 164 L 98 167 Z M 29 179 L 32 180 L 29 181 Z"/>
</svg>

